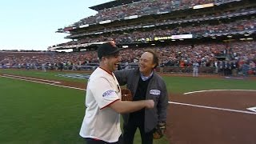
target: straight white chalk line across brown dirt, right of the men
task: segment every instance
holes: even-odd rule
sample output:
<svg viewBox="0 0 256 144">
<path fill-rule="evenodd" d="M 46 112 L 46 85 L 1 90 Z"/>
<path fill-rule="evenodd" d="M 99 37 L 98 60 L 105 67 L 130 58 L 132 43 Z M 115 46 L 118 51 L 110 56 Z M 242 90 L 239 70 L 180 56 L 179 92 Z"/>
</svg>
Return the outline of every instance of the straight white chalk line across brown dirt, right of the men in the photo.
<svg viewBox="0 0 256 144">
<path fill-rule="evenodd" d="M 212 110 L 230 111 L 230 112 L 242 113 L 242 114 L 256 114 L 254 112 L 244 111 L 244 110 L 232 110 L 232 109 L 224 109 L 224 108 L 219 108 L 219 107 L 192 105 L 189 103 L 181 103 L 181 102 L 169 102 L 169 103 L 175 104 L 175 105 L 182 105 L 182 106 L 194 106 L 194 107 L 200 107 L 200 108 L 212 109 Z"/>
</svg>

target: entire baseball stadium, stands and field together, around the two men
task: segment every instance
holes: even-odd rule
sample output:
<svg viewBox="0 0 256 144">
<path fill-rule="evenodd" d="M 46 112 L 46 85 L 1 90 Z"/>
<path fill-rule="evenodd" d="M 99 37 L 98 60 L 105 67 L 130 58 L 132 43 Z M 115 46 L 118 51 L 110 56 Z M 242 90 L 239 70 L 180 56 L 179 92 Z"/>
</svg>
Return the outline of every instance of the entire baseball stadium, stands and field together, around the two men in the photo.
<svg viewBox="0 0 256 144">
<path fill-rule="evenodd" d="M 0 51 L 0 143 L 85 143 L 87 80 L 99 66 L 98 46 L 110 41 L 123 48 L 118 70 L 138 68 L 144 50 L 159 56 L 155 72 L 169 101 L 166 132 L 154 144 L 256 143 L 256 1 L 116 0 L 89 8 L 98 13 L 56 30 L 70 42 Z M 141 142 L 137 130 L 134 144 Z"/>
</svg>

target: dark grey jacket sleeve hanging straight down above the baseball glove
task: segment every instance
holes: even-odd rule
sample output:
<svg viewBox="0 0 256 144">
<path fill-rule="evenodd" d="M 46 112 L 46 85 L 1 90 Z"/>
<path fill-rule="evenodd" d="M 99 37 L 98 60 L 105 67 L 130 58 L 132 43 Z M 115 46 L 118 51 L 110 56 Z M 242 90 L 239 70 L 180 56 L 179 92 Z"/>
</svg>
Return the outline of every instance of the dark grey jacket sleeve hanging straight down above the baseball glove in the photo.
<svg viewBox="0 0 256 144">
<path fill-rule="evenodd" d="M 158 102 L 158 121 L 166 122 L 169 95 L 166 90 L 166 83 L 163 80 L 161 83 L 161 89 L 162 89 L 162 94 Z"/>
</svg>

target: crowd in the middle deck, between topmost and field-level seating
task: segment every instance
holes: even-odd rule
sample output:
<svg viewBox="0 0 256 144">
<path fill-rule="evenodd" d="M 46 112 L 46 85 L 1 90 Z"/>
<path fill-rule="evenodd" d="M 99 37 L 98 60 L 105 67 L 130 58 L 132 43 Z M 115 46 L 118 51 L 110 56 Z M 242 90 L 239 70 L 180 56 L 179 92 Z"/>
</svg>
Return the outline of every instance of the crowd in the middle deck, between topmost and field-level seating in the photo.
<svg viewBox="0 0 256 144">
<path fill-rule="evenodd" d="M 226 33 L 251 33 L 255 31 L 256 21 L 254 17 L 245 17 L 233 19 L 232 21 L 226 21 L 232 17 L 242 16 L 243 14 L 256 13 L 254 9 L 239 9 L 233 11 L 226 11 L 224 13 L 204 14 L 191 16 L 186 18 L 162 20 L 161 22 L 147 23 L 146 25 L 162 26 L 161 28 L 155 27 L 154 30 L 150 29 L 138 29 L 142 28 L 143 24 L 138 26 L 122 26 L 113 28 L 107 28 L 102 30 L 102 34 L 90 33 L 76 33 L 67 38 L 73 38 L 74 36 L 82 37 L 78 41 L 70 41 L 56 46 L 72 46 L 91 42 L 102 42 L 108 40 L 108 38 L 114 38 L 117 43 L 126 42 L 138 42 L 145 38 L 165 37 L 175 34 L 194 34 L 194 35 L 210 35 L 210 34 L 226 34 Z M 219 19 L 220 18 L 220 19 Z M 222 21 L 223 18 L 223 21 Z M 218 22 L 210 22 L 209 19 L 218 19 Z M 194 23 L 187 23 L 194 22 Z M 168 24 L 167 24 L 168 23 Z M 250 32 L 249 32 L 250 31 Z M 122 33 L 122 34 L 120 34 Z M 54 46 L 53 46 L 54 47 Z"/>
</svg>

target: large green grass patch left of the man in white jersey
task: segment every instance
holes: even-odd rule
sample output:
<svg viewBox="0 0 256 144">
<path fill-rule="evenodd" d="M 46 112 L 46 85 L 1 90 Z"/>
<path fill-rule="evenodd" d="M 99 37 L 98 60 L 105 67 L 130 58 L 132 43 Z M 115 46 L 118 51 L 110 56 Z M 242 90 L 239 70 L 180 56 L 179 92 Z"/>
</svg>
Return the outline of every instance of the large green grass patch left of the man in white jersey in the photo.
<svg viewBox="0 0 256 144">
<path fill-rule="evenodd" d="M 0 78 L 0 143 L 82 143 L 84 91 Z"/>
</svg>

